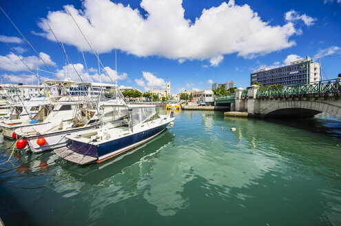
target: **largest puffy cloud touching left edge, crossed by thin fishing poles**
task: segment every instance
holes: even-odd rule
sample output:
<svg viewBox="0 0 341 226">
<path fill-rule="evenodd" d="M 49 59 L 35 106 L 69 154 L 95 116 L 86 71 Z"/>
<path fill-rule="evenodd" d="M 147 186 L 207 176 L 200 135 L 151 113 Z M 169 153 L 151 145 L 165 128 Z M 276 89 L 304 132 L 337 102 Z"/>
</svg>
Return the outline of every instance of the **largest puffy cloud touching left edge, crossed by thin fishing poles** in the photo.
<svg viewBox="0 0 341 226">
<path fill-rule="evenodd" d="M 39 56 L 45 61 L 46 64 L 56 66 L 51 60 L 51 57 L 44 52 L 40 52 Z M 44 65 L 43 61 L 41 61 L 37 56 L 21 56 L 19 57 L 25 62 L 26 65 L 31 70 L 35 70 L 37 67 L 40 68 Z M 3 70 L 8 70 L 11 72 L 19 72 L 22 70 L 29 70 L 25 64 L 13 53 L 7 54 L 6 56 L 0 56 L 0 68 Z"/>
</svg>

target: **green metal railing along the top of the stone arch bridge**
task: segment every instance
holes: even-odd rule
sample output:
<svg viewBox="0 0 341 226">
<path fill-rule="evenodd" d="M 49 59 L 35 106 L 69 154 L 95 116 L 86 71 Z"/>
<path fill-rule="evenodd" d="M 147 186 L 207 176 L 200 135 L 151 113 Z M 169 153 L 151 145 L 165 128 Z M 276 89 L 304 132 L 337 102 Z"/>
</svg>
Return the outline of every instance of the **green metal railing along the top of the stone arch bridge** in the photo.
<svg viewBox="0 0 341 226">
<path fill-rule="evenodd" d="M 318 81 L 304 85 L 293 85 L 282 88 L 269 88 L 267 90 L 258 90 L 257 96 L 283 96 L 298 94 L 322 94 L 322 93 L 340 93 L 341 84 L 336 79 Z"/>
</svg>

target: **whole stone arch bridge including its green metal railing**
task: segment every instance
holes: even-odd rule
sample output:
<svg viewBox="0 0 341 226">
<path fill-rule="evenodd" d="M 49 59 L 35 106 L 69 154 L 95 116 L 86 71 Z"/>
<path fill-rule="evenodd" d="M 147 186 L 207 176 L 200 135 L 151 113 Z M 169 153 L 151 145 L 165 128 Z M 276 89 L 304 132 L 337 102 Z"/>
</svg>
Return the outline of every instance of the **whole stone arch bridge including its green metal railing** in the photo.
<svg viewBox="0 0 341 226">
<path fill-rule="evenodd" d="M 333 80 L 304 85 L 260 90 L 251 85 L 236 90 L 232 96 L 216 99 L 216 103 L 231 103 L 231 110 L 266 117 L 309 117 L 320 112 L 341 117 L 341 84 Z M 228 102 L 229 101 L 229 102 Z"/>
</svg>

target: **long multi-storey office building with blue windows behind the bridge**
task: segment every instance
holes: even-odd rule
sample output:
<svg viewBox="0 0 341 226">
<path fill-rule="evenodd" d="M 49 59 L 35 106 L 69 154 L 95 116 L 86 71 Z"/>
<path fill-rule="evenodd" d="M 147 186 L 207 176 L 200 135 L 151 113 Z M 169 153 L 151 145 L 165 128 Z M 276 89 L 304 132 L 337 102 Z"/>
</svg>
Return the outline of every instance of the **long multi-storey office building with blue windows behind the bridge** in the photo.
<svg viewBox="0 0 341 226">
<path fill-rule="evenodd" d="M 320 64 L 312 59 L 292 61 L 290 65 L 279 68 L 262 68 L 251 73 L 252 85 L 255 82 L 264 85 L 298 85 L 320 81 Z"/>
</svg>

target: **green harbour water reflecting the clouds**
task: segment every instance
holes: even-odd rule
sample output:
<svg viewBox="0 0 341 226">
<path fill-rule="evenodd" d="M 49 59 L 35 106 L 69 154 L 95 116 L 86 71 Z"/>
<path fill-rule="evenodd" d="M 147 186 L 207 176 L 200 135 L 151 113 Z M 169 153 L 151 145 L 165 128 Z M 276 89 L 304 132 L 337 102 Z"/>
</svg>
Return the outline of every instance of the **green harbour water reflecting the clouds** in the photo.
<svg viewBox="0 0 341 226">
<path fill-rule="evenodd" d="M 54 152 L 17 150 L 6 162 L 13 141 L 1 137 L 1 182 L 57 182 L 0 184 L 3 223 L 341 225 L 341 119 L 175 116 L 152 141 L 87 167 Z"/>
</svg>

